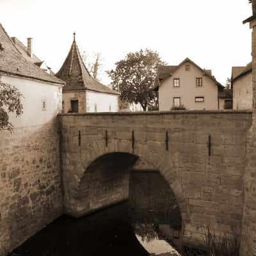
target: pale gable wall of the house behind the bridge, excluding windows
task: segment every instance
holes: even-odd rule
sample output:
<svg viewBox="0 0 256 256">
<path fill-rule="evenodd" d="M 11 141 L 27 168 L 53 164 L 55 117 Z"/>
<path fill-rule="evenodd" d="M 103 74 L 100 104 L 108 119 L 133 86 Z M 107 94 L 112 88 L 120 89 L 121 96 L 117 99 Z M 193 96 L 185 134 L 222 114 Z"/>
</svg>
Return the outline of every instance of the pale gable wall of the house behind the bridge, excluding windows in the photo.
<svg viewBox="0 0 256 256">
<path fill-rule="evenodd" d="M 168 111 L 173 107 L 173 97 L 180 97 L 180 104 L 186 109 L 218 109 L 218 86 L 195 65 L 185 70 L 184 63 L 171 77 L 159 86 L 159 110 Z M 202 77 L 202 87 L 196 86 L 196 77 Z M 180 79 L 180 87 L 173 87 L 173 79 Z M 204 102 L 195 102 L 195 97 L 204 97 Z"/>
</svg>

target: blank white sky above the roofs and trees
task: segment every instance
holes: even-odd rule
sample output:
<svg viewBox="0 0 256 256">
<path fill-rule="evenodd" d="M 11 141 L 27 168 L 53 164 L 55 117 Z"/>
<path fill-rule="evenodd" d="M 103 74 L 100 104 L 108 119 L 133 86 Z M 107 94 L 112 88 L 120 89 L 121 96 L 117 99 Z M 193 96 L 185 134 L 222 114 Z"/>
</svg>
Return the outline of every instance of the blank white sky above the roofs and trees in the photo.
<svg viewBox="0 0 256 256">
<path fill-rule="evenodd" d="M 0 22 L 57 72 L 76 31 L 80 51 L 102 52 L 104 70 L 128 52 L 152 49 L 170 65 L 188 57 L 225 84 L 251 61 L 248 0 L 0 0 Z M 103 83 L 109 83 L 104 76 Z"/>
</svg>

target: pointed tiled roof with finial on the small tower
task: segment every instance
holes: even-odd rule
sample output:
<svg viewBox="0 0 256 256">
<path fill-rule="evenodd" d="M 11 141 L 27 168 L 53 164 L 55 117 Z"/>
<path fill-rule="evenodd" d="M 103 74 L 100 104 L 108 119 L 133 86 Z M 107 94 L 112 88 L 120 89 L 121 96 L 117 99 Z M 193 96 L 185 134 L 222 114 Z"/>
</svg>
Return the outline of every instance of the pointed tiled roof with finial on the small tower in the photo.
<svg viewBox="0 0 256 256">
<path fill-rule="evenodd" d="M 99 83 L 90 75 L 81 58 L 76 44 L 75 34 L 67 58 L 56 76 L 66 82 L 66 85 L 63 87 L 63 92 L 92 90 L 95 92 L 119 94 L 115 90 L 108 88 L 108 86 Z"/>
</svg>

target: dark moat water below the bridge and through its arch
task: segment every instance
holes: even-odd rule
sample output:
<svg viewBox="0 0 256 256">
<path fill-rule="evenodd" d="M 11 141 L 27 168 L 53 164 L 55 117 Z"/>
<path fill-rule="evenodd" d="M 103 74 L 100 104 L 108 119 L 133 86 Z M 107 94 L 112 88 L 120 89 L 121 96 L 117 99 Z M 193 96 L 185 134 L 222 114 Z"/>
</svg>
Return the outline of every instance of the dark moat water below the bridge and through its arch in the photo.
<svg viewBox="0 0 256 256">
<path fill-rule="evenodd" d="M 161 174 L 132 171 L 128 200 L 81 218 L 63 215 L 10 255 L 179 255 L 164 230 L 180 228 L 179 205 Z"/>
</svg>

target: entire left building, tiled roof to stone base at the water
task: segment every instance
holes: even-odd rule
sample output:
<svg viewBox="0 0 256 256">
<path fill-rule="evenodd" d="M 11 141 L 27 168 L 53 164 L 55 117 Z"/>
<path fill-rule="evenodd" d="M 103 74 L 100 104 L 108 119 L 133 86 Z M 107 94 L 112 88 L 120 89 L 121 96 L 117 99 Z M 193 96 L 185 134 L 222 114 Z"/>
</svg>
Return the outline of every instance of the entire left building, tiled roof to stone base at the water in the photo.
<svg viewBox="0 0 256 256">
<path fill-rule="evenodd" d="M 1 85 L 22 93 L 23 114 L 0 129 L 0 255 L 62 212 L 58 123 L 65 82 L 22 56 L 0 24 Z M 25 227 L 25 228 L 24 228 Z"/>
</svg>

